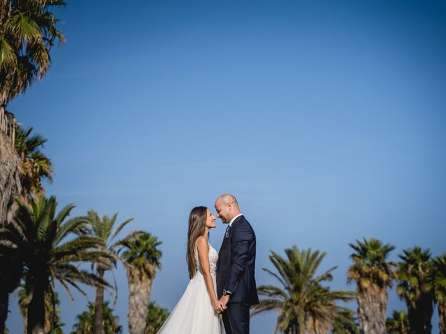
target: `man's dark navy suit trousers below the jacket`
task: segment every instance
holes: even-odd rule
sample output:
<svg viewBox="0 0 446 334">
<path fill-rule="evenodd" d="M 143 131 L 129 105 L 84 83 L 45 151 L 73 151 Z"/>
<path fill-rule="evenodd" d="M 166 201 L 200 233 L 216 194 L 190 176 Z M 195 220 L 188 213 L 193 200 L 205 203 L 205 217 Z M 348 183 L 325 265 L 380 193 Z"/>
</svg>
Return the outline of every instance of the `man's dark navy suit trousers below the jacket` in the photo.
<svg viewBox="0 0 446 334">
<path fill-rule="evenodd" d="M 249 308 L 246 303 L 229 303 L 222 312 L 226 334 L 249 334 Z"/>
</svg>

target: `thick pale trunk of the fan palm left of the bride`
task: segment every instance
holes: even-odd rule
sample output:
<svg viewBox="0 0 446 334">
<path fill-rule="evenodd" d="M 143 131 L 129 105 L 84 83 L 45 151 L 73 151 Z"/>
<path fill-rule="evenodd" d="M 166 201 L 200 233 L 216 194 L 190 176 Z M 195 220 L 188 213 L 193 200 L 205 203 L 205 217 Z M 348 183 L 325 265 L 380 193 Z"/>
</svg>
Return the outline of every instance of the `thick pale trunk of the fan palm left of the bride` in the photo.
<svg viewBox="0 0 446 334">
<path fill-rule="evenodd" d="M 125 264 L 129 284 L 128 329 L 130 334 L 144 334 L 153 280 Z"/>
</svg>

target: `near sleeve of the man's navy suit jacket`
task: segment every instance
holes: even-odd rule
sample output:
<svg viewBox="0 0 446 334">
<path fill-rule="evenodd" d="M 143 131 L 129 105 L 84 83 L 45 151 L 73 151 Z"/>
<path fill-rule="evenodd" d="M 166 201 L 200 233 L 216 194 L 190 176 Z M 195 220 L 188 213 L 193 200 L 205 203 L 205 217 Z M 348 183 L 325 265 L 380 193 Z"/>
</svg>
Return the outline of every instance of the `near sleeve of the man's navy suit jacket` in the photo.
<svg viewBox="0 0 446 334">
<path fill-rule="evenodd" d="M 247 224 L 239 225 L 231 237 L 231 269 L 226 284 L 226 290 L 230 292 L 236 293 L 240 278 L 245 273 L 252 239 L 252 229 Z"/>
</svg>

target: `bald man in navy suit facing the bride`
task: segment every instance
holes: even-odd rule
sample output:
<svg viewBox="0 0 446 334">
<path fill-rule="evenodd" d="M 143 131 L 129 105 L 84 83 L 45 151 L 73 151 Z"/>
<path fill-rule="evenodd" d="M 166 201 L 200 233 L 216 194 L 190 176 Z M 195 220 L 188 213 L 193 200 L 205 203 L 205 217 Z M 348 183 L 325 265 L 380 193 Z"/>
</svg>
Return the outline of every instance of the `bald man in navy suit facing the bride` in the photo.
<svg viewBox="0 0 446 334">
<path fill-rule="evenodd" d="M 254 268 L 256 234 L 240 213 L 234 196 L 224 194 L 215 200 L 217 218 L 228 224 L 217 262 L 217 296 L 226 334 L 249 333 L 249 308 L 259 303 Z"/>
</svg>

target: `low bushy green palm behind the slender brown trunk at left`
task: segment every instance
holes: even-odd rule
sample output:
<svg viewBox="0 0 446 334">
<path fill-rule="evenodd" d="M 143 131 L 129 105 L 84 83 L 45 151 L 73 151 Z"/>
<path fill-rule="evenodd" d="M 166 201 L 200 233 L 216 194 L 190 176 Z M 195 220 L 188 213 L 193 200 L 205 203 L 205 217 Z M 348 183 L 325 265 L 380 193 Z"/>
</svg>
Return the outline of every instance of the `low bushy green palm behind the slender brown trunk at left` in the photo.
<svg viewBox="0 0 446 334">
<path fill-rule="evenodd" d="M 93 334 L 95 305 L 89 302 L 89 310 L 77 315 L 77 322 L 72 326 L 73 331 L 70 334 Z M 121 334 L 122 326 L 119 325 L 119 319 L 113 315 L 113 309 L 109 307 L 106 301 L 102 305 L 102 327 L 105 334 Z"/>
</svg>

